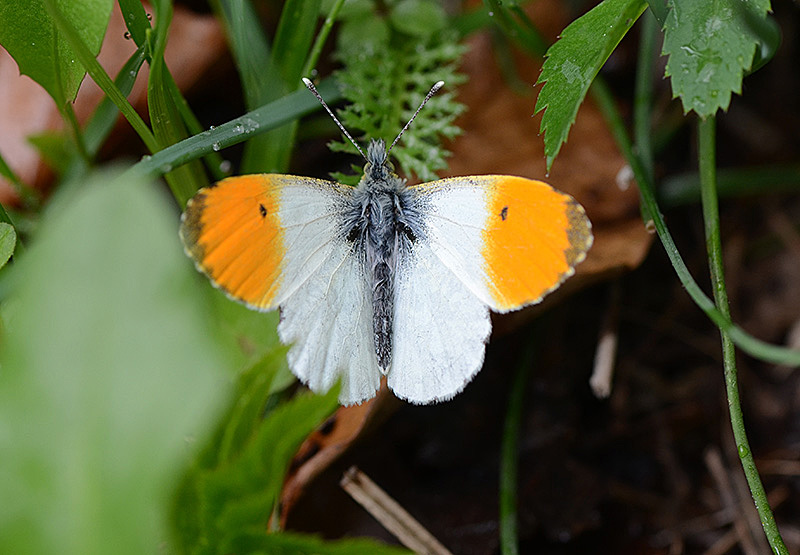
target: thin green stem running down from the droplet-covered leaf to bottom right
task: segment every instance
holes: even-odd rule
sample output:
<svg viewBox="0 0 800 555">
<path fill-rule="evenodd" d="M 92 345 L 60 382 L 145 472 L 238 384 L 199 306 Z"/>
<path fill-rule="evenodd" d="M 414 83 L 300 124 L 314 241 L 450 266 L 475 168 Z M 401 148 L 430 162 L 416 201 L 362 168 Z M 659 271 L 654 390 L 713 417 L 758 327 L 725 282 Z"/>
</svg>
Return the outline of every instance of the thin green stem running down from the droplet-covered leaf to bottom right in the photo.
<svg viewBox="0 0 800 555">
<path fill-rule="evenodd" d="M 722 241 L 719 232 L 719 211 L 717 201 L 717 176 L 715 160 L 715 127 L 716 118 L 709 117 L 698 123 L 698 152 L 700 157 L 700 192 L 703 204 L 703 220 L 706 230 L 706 249 L 711 270 L 711 285 L 714 291 L 714 300 L 722 314 L 730 318 L 728 306 L 728 293 L 725 289 L 725 273 L 722 263 Z M 775 518 L 772 515 L 764 485 L 758 475 L 753 453 L 747 441 L 747 432 L 744 427 L 744 415 L 739 401 L 739 384 L 736 373 L 736 350 L 730 336 L 720 330 L 722 336 L 722 362 L 725 367 L 725 389 L 728 394 L 728 409 L 731 415 L 733 437 L 742 461 L 750 494 L 753 496 L 756 510 L 761 518 L 764 534 L 772 546 L 772 551 L 788 555 L 789 551 L 783 543 Z"/>
</svg>

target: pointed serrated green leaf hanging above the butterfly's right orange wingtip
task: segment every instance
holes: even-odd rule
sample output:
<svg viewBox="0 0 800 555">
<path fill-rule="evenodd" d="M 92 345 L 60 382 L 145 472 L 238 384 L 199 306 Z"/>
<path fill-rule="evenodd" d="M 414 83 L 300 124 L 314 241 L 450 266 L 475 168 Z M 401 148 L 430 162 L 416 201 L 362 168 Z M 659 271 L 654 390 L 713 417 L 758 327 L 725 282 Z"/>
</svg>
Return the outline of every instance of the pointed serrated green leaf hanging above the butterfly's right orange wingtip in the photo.
<svg viewBox="0 0 800 555">
<path fill-rule="evenodd" d="M 541 131 L 548 170 L 567 141 L 589 85 L 646 7 L 644 0 L 604 0 L 570 23 L 547 51 L 534 111 L 545 111 Z"/>
</svg>

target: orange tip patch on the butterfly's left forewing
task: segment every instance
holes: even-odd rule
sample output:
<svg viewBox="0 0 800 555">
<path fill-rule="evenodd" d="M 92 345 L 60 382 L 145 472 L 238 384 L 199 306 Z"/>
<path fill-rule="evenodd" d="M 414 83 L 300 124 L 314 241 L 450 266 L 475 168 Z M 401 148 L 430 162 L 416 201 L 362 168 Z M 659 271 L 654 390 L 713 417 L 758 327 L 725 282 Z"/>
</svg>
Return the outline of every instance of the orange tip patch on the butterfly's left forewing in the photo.
<svg viewBox="0 0 800 555">
<path fill-rule="evenodd" d="M 275 308 L 285 254 L 278 189 L 269 175 L 229 177 L 186 206 L 181 238 L 197 267 L 230 297 Z"/>
</svg>

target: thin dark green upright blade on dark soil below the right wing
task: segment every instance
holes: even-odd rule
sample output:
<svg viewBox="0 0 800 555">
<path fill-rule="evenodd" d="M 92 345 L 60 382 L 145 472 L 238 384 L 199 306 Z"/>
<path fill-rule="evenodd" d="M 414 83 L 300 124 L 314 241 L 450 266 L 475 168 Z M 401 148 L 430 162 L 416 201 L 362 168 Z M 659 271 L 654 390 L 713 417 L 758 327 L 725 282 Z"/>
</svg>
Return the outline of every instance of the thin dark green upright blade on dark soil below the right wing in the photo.
<svg viewBox="0 0 800 555">
<path fill-rule="evenodd" d="M 519 429 L 525 384 L 532 363 L 532 348 L 517 366 L 511 395 L 503 425 L 503 444 L 500 447 L 500 552 L 503 555 L 519 553 L 519 522 L 517 520 L 517 468 L 519 462 Z"/>
</svg>

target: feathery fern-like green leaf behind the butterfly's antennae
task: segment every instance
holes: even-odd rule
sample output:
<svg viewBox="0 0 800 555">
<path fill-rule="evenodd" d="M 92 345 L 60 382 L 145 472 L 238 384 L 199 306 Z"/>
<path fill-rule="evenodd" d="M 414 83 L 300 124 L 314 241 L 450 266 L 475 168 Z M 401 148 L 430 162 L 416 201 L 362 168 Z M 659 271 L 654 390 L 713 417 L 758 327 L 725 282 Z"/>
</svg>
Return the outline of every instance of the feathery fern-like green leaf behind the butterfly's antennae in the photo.
<svg viewBox="0 0 800 555">
<path fill-rule="evenodd" d="M 351 133 L 358 130 L 360 141 L 382 138 L 390 144 L 430 87 L 444 81 L 446 89 L 428 102 L 392 150 L 400 173 L 435 179 L 450 154 L 442 139 L 460 133 L 453 121 L 464 106 L 456 102 L 453 89 L 464 82 L 456 67 L 466 48 L 448 29 L 438 2 L 394 0 L 379 9 L 374 0 L 355 0 L 347 6 L 336 49 L 344 66 L 337 79 L 350 102 L 339 111 L 342 123 Z M 331 149 L 357 153 L 344 141 L 332 143 Z"/>
</svg>

